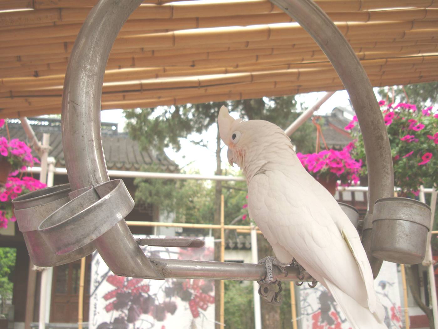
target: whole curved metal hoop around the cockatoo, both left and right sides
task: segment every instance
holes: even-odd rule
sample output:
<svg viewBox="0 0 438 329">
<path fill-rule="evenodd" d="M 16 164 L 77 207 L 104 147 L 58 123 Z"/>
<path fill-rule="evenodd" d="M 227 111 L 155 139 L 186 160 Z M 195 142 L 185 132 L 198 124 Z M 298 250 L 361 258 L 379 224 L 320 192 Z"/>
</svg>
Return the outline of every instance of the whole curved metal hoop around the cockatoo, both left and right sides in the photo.
<svg viewBox="0 0 438 329">
<path fill-rule="evenodd" d="M 392 196 L 394 182 L 389 139 L 371 83 L 346 39 L 311 0 L 271 1 L 310 33 L 350 94 L 364 136 L 370 182 L 368 213 L 372 213 L 375 200 Z M 74 43 L 62 100 L 63 147 L 72 190 L 109 180 L 100 132 L 103 75 L 118 32 L 141 3 L 142 0 L 100 0 Z M 156 279 L 163 278 L 162 272 L 166 275 L 166 271 L 156 267 L 158 261 L 154 266 L 145 257 L 124 221 L 94 243 L 116 274 Z M 370 262 L 373 266 L 372 258 Z M 380 265 L 373 268 L 378 272 Z"/>
</svg>

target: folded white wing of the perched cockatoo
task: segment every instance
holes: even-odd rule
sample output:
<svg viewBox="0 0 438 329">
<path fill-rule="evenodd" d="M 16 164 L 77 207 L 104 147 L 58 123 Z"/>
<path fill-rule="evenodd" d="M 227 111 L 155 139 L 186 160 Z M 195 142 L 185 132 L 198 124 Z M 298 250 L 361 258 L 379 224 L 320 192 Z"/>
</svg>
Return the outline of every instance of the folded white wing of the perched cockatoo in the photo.
<svg viewBox="0 0 438 329">
<path fill-rule="evenodd" d="M 367 280 L 358 266 L 362 260 L 356 260 L 354 247 L 352 252 L 332 220 L 331 206 L 325 198 L 315 197 L 309 186 L 313 178 L 304 169 L 296 169 L 272 168 L 254 175 L 248 186 L 252 218 L 269 243 L 278 243 L 289 251 L 319 282 L 325 285 L 329 281 L 366 308 L 372 306 L 372 302 L 368 304 L 374 296 L 375 305 L 375 293 L 366 288 Z M 355 246 L 350 232 L 346 236 Z"/>
</svg>

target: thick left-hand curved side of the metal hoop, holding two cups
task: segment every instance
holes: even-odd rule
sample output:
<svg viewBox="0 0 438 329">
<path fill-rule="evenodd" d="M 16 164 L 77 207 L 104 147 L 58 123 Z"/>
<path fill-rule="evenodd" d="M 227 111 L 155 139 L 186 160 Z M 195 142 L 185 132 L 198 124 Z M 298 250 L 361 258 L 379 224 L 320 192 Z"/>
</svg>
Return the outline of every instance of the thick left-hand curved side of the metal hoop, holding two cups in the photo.
<svg viewBox="0 0 438 329">
<path fill-rule="evenodd" d="M 61 132 L 72 190 L 109 180 L 100 132 L 103 75 L 117 34 L 141 2 L 100 0 L 88 14 L 71 51 L 64 80 Z M 125 221 L 94 243 L 115 274 L 160 278 Z"/>
</svg>

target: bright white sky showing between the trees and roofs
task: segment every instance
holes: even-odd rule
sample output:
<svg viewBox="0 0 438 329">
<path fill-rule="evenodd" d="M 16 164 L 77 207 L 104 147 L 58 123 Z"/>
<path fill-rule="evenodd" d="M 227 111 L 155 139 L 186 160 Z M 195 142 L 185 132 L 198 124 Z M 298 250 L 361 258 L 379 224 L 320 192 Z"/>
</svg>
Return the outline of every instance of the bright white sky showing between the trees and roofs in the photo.
<svg viewBox="0 0 438 329">
<path fill-rule="evenodd" d="M 377 88 L 374 88 L 374 92 L 377 93 Z M 325 92 L 299 94 L 295 98 L 297 103 L 304 103 L 306 107 L 314 105 L 318 99 L 320 99 Z M 337 91 L 332 97 L 329 98 L 321 108 L 316 112 L 317 114 L 324 115 L 332 111 L 336 106 L 348 107 L 350 101 L 348 93 L 345 90 Z M 119 131 L 123 131 L 124 123 L 126 122 L 123 117 L 122 110 L 106 110 L 101 112 L 102 122 L 116 122 L 119 123 Z M 237 115 L 231 114 L 235 118 Z M 292 123 L 292 122 L 291 122 Z M 175 161 L 180 168 L 184 167 L 184 170 L 199 170 L 202 175 L 213 175 L 216 168 L 216 126 L 213 125 L 206 132 L 199 134 L 192 134 L 190 139 L 200 140 L 203 139 L 208 143 L 208 149 L 202 146 L 197 146 L 191 143 L 187 139 L 181 140 L 181 150 L 175 152 L 172 148 L 167 148 L 166 154 L 170 159 Z M 221 153 L 222 168 L 230 169 L 230 164 L 226 161 L 226 147 L 222 149 Z M 236 168 L 237 169 L 237 168 Z"/>
</svg>

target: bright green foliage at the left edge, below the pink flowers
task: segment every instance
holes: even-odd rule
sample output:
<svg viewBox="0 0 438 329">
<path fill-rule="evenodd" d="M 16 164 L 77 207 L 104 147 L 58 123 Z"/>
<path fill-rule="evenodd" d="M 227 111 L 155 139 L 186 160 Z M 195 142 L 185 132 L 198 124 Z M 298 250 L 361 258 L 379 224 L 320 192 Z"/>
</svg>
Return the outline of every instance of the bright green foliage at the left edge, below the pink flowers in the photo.
<svg viewBox="0 0 438 329">
<path fill-rule="evenodd" d="M 14 287 L 12 276 L 14 275 L 15 258 L 17 250 L 15 248 L 0 248 L 0 295 L 1 305 L 7 298 L 12 296 Z"/>
</svg>

